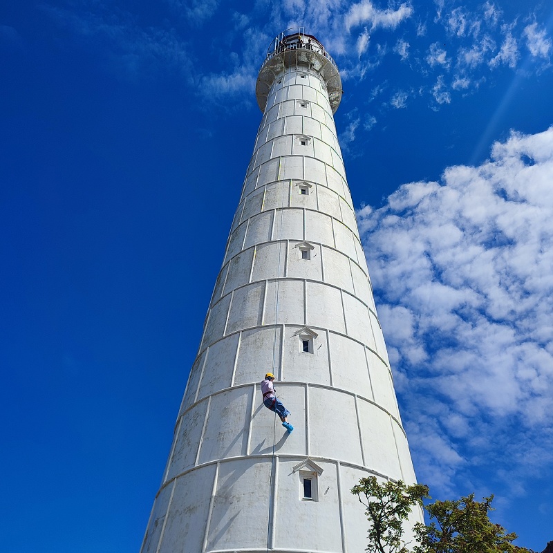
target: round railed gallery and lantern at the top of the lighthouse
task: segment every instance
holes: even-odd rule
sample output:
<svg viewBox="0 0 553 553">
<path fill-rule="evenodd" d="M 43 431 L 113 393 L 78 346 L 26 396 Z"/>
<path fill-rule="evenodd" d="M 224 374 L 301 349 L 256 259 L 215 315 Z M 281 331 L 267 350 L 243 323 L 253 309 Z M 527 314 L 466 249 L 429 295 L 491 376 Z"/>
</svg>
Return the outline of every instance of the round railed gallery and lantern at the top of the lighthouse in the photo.
<svg viewBox="0 0 553 553">
<path fill-rule="evenodd" d="M 343 93 L 338 66 L 314 36 L 306 35 L 303 27 L 286 29 L 271 41 L 255 86 L 261 111 L 265 111 L 274 79 L 289 67 L 306 68 L 317 73 L 326 84 L 332 113 L 336 113 Z"/>
</svg>

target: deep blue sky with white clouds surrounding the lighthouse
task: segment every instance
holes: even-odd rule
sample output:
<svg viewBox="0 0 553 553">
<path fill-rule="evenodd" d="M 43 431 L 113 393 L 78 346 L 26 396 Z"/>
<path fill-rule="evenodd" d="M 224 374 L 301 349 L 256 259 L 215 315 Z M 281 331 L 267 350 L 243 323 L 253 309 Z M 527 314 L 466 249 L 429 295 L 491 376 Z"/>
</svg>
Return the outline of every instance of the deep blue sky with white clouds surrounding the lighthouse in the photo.
<svg viewBox="0 0 553 553">
<path fill-rule="evenodd" d="M 135 552 L 261 113 L 270 40 L 336 115 L 415 470 L 553 539 L 553 8 L 0 3 L 2 549 Z"/>
</svg>

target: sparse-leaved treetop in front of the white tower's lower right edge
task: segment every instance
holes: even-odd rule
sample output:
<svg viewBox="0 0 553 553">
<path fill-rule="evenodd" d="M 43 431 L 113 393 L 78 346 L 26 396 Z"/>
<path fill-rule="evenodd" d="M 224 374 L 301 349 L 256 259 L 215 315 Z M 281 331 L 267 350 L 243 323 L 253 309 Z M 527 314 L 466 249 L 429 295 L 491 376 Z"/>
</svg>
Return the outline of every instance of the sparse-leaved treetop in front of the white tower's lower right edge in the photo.
<svg viewBox="0 0 553 553">
<path fill-rule="evenodd" d="M 422 505 L 429 498 L 428 487 L 422 484 L 407 486 L 398 482 L 379 484 L 375 476 L 362 478 L 351 490 L 366 507 L 371 527 L 368 530 L 368 553 L 409 553 L 402 540 L 403 522 L 411 507 Z"/>
</svg>

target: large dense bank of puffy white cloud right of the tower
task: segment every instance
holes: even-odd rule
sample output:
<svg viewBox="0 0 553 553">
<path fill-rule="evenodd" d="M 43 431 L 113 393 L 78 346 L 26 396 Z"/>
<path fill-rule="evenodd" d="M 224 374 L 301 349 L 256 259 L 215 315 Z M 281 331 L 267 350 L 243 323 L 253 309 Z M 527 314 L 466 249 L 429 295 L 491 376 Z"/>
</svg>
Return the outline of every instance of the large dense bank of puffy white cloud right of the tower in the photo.
<svg viewBox="0 0 553 553">
<path fill-rule="evenodd" d="M 552 182 L 553 128 L 512 133 L 357 214 L 415 465 L 442 491 L 553 463 Z"/>
</svg>

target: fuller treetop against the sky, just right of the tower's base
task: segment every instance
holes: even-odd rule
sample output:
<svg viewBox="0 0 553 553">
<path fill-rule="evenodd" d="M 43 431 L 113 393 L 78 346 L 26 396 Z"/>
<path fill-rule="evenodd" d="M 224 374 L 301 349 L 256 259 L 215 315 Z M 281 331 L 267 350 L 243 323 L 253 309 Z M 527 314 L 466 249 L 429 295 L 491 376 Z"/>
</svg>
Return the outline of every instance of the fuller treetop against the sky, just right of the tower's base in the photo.
<svg viewBox="0 0 553 553">
<path fill-rule="evenodd" d="M 489 520 L 494 496 L 475 501 L 474 494 L 455 501 L 435 501 L 424 508 L 430 515 L 430 525 L 417 523 L 415 535 L 420 545 L 413 553 L 532 553 L 512 542 L 514 532 Z"/>
</svg>

